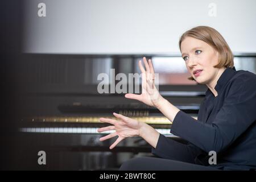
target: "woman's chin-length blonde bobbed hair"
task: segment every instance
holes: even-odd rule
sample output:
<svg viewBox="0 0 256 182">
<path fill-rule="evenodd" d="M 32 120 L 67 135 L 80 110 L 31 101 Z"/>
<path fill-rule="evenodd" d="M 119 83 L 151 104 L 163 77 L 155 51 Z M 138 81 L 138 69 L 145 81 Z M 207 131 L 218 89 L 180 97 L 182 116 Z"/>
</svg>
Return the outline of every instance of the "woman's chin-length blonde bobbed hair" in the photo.
<svg viewBox="0 0 256 182">
<path fill-rule="evenodd" d="M 198 40 L 202 40 L 209 46 L 212 46 L 216 51 L 218 51 L 218 64 L 214 65 L 214 68 L 234 67 L 233 53 L 229 48 L 228 43 L 226 43 L 226 40 L 217 30 L 207 26 L 194 27 L 181 35 L 179 40 L 179 47 L 181 46 L 181 42 L 183 42 L 183 40 L 188 36 Z M 192 76 L 188 79 L 194 80 Z"/>
</svg>

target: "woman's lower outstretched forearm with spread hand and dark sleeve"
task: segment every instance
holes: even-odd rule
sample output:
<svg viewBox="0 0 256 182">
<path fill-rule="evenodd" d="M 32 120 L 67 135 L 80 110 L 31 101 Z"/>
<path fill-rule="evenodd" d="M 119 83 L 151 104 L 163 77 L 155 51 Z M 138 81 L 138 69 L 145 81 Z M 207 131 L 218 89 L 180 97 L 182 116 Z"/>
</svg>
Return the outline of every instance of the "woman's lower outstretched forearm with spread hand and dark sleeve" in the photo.
<svg viewBox="0 0 256 182">
<path fill-rule="evenodd" d="M 102 127 L 99 132 L 115 130 L 114 133 L 100 138 L 101 141 L 118 136 L 117 140 L 110 146 L 114 148 L 121 140 L 127 137 L 142 137 L 152 146 L 152 153 L 162 158 L 180 160 L 183 162 L 194 163 L 197 155 L 202 151 L 200 148 L 192 144 L 182 144 L 175 140 L 164 137 L 159 134 L 153 127 L 143 122 L 138 122 L 135 119 L 125 117 L 121 114 L 114 113 L 115 117 L 121 119 L 101 118 L 102 122 L 112 124 L 112 126 Z"/>
</svg>

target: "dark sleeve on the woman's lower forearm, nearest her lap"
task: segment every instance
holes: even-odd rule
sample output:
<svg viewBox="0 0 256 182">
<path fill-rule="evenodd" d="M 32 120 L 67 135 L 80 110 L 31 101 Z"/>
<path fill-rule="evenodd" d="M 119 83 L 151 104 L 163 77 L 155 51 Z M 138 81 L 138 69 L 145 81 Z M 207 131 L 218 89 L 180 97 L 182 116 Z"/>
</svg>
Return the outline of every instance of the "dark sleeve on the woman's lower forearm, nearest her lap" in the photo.
<svg viewBox="0 0 256 182">
<path fill-rule="evenodd" d="M 202 151 L 193 144 L 183 144 L 160 134 L 156 148 L 152 147 L 151 152 L 164 159 L 195 163 L 196 156 Z"/>
</svg>

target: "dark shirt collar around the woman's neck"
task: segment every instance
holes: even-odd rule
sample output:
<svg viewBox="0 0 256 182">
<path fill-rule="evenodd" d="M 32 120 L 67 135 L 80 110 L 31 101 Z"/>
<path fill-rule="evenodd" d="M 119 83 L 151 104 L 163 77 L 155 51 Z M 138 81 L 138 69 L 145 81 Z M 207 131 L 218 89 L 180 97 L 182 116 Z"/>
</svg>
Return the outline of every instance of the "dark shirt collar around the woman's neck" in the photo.
<svg viewBox="0 0 256 182">
<path fill-rule="evenodd" d="M 221 74 L 220 78 L 218 78 L 217 84 L 214 87 L 214 89 L 217 92 L 220 92 L 221 88 L 223 88 L 223 86 L 226 84 L 226 82 L 228 82 L 230 80 L 230 78 L 232 78 L 235 74 L 236 74 L 235 67 L 226 68 L 225 71 Z M 208 96 L 209 94 L 212 94 L 212 91 L 210 91 L 210 89 L 207 90 L 205 95 Z"/>
</svg>

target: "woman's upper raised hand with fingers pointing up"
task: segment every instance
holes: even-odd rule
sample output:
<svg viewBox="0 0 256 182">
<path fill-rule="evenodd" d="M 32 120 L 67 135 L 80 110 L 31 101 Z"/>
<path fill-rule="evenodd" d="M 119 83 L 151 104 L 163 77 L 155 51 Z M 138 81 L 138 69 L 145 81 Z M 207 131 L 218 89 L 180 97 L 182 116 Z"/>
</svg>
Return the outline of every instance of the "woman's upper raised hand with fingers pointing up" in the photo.
<svg viewBox="0 0 256 182">
<path fill-rule="evenodd" d="M 142 94 L 125 94 L 126 98 L 134 99 L 143 102 L 146 105 L 158 107 L 160 101 L 163 100 L 163 97 L 159 94 L 158 89 L 155 87 L 155 72 L 152 65 L 151 59 L 146 60 L 146 57 L 143 57 L 143 62 L 146 68 L 146 71 L 139 60 L 139 69 L 142 72 Z"/>
</svg>

